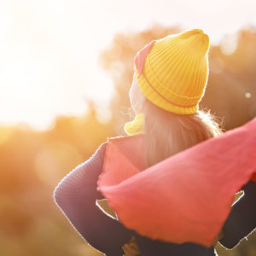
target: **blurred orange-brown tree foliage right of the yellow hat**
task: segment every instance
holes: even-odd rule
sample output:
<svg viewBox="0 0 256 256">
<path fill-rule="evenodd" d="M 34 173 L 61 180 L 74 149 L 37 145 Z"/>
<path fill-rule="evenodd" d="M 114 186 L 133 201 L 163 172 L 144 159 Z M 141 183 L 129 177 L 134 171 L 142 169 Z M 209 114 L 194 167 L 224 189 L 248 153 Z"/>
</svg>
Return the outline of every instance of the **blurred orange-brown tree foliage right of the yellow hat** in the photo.
<svg viewBox="0 0 256 256">
<path fill-rule="evenodd" d="M 241 30 L 232 40 L 210 48 L 209 82 L 201 101 L 201 106 L 224 117 L 226 130 L 256 116 L 256 29 Z M 227 55 L 224 49 L 231 43 L 236 49 Z"/>
</svg>

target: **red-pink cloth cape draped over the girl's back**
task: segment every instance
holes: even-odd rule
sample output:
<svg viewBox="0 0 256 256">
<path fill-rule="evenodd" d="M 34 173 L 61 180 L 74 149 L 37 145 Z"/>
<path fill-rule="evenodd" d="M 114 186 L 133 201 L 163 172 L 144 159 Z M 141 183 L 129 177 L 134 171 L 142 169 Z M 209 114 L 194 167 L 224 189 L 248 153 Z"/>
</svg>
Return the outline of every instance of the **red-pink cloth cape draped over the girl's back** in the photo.
<svg viewBox="0 0 256 256">
<path fill-rule="evenodd" d="M 128 229 L 211 247 L 250 179 L 256 182 L 256 118 L 149 168 L 143 135 L 108 139 L 97 190 Z"/>
</svg>

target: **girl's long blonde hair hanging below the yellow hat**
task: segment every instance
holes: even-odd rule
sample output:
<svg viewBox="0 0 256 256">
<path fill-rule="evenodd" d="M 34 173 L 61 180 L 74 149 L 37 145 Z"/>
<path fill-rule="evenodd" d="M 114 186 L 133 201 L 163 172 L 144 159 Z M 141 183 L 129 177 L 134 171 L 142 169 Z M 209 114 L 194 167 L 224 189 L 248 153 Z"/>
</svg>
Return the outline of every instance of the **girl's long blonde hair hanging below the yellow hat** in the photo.
<svg viewBox="0 0 256 256">
<path fill-rule="evenodd" d="M 198 110 L 194 114 L 177 114 L 158 108 L 146 98 L 144 113 L 144 158 L 146 166 L 222 134 L 210 111 Z"/>
</svg>

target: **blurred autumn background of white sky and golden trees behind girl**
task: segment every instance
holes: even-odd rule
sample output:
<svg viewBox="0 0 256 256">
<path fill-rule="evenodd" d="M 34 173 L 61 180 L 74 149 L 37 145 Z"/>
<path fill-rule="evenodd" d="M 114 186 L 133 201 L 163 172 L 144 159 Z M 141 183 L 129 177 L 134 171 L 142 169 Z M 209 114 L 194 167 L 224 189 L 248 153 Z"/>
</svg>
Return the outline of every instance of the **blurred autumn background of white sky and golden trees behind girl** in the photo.
<svg viewBox="0 0 256 256">
<path fill-rule="evenodd" d="M 56 207 L 57 183 L 124 134 L 133 58 L 153 39 L 211 39 L 201 108 L 225 130 L 256 116 L 256 3 L 0 0 L 0 255 L 100 256 Z M 220 256 L 256 255 L 256 232 Z"/>
</svg>

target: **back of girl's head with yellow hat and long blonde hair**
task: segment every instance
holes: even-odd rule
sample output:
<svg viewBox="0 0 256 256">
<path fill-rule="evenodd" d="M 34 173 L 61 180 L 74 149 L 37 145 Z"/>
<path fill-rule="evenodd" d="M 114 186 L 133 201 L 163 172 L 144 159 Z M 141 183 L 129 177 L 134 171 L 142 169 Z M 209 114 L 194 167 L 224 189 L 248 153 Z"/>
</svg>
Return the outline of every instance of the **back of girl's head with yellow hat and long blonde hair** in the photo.
<svg viewBox="0 0 256 256">
<path fill-rule="evenodd" d="M 208 49 L 207 34 L 193 29 L 154 40 L 137 53 L 147 166 L 222 133 L 212 114 L 199 109 L 207 87 Z"/>
</svg>

